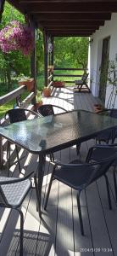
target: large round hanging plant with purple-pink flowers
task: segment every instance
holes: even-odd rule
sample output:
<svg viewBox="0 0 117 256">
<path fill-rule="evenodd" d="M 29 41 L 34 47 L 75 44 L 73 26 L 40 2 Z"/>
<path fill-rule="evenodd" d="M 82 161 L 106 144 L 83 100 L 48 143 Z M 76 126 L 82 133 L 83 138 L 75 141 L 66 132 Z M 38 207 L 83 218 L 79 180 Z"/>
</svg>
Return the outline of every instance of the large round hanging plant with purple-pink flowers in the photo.
<svg viewBox="0 0 117 256">
<path fill-rule="evenodd" d="M 3 53 L 20 50 L 23 55 L 29 55 L 33 47 L 34 40 L 30 26 L 12 20 L 0 31 L 0 48 Z"/>
</svg>

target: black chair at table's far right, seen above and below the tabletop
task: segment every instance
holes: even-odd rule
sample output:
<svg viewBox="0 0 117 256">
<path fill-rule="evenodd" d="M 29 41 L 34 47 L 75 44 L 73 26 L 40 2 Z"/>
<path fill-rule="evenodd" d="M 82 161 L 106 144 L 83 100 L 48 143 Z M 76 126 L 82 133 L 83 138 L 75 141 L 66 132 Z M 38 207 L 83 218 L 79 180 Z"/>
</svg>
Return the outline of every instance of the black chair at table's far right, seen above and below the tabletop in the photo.
<svg viewBox="0 0 117 256">
<path fill-rule="evenodd" d="M 117 118 L 117 108 L 105 109 L 98 114 L 106 114 L 112 118 Z M 117 128 L 108 129 L 107 131 L 101 131 L 96 138 L 96 143 L 114 143 L 114 139 L 117 137 Z"/>
</svg>

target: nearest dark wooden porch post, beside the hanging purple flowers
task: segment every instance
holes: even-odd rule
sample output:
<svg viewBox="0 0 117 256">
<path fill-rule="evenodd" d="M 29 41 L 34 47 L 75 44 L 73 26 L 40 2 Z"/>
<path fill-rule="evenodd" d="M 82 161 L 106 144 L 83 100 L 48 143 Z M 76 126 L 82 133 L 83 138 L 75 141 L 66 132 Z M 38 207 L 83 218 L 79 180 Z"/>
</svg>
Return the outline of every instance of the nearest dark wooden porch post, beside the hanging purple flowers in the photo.
<svg viewBox="0 0 117 256">
<path fill-rule="evenodd" d="M 32 19 L 30 19 L 30 24 L 31 24 L 31 30 L 33 33 L 33 38 L 34 38 L 34 49 L 31 53 L 31 78 L 34 78 L 35 84 L 34 84 L 34 93 L 35 97 L 32 100 L 32 104 L 36 104 L 36 25 Z"/>
</svg>

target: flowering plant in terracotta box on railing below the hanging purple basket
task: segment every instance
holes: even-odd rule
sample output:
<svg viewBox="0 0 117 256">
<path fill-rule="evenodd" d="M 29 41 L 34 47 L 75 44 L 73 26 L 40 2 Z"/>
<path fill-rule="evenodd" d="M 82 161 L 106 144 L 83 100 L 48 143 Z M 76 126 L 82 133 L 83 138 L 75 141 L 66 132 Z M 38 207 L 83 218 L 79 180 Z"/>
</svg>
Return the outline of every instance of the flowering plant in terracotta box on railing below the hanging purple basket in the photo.
<svg viewBox="0 0 117 256">
<path fill-rule="evenodd" d="M 29 91 L 34 88 L 34 79 L 30 79 L 29 77 L 21 76 L 18 83 L 19 85 L 26 85 L 27 90 Z"/>
</svg>

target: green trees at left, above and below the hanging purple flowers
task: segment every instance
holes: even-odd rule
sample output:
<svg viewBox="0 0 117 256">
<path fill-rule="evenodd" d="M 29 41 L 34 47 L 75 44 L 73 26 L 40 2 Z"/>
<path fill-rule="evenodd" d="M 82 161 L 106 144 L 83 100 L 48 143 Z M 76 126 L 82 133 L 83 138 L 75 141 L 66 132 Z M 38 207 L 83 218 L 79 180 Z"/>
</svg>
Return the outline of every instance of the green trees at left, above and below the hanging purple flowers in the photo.
<svg viewBox="0 0 117 256">
<path fill-rule="evenodd" d="M 0 29 L 8 25 L 11 20 L 19 20 L 21 23 L 25 23 L 24 15 L 21 15 L 10 4 L 5 3 Z M 19 76 L 20 73 L 30 74 L 30 57 L 25 57 L 19 51 L 11 51 L 4 54 L 0 50 L 0 63 L 1 81 L 8 83 L 8 90 L 12 90 L 12 73 L 15 73 L 16 76 Z"/>
</svg>

